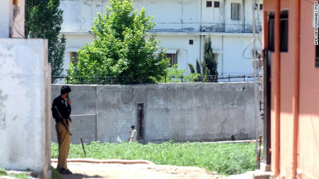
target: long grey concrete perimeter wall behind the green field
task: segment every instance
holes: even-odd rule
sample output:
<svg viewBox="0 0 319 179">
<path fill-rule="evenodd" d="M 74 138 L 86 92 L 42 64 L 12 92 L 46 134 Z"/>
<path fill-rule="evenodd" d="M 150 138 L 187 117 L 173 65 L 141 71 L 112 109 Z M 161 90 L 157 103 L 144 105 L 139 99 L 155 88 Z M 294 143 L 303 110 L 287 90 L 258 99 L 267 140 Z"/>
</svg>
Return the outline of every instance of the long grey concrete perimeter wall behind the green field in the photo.
<svg viewBox="0 0 319 179">
<path fill-rule="evenodd" d="M 127 140 L 138 126 L 143 103 L 141 142 L 236 140 L 255 137 L 253 83 L 187 83 L 143 85 L 70 85 L 71 143 Z M 61 85 L 52 85 L 52 100 Z M 259 91 L 259 98 L 261 91 Z M 259 100 L 259 99 L 258 99 Z M 258 120 L 261 134 L 261 120 Z M 52 120 L 52 141 L 56 142 Z M 139 131 L 138 131 L 139 132 Z"/>
</svg>

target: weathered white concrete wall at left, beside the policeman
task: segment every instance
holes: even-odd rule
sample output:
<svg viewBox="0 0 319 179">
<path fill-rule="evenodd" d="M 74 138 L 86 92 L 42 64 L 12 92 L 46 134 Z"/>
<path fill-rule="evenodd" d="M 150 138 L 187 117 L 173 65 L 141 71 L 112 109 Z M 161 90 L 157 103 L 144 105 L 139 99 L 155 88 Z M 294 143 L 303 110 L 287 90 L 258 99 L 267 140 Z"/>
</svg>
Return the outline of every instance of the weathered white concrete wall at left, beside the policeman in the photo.
<svg viewBox="0 0 319 179">
<path fill-rule="evenodd" d="M 51 68 L 46 39 L 0 38 L 0 167 L 50 179 Z"/>
</svg>

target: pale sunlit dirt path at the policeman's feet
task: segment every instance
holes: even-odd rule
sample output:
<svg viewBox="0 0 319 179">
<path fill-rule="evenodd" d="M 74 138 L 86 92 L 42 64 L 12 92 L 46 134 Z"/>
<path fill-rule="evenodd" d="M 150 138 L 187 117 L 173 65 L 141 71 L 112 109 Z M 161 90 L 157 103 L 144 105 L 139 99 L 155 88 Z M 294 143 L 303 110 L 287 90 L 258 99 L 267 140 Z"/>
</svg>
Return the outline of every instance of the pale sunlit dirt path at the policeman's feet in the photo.
<svg viewBox="0 0 319 179">
<path fill-rule="evenodd" d="M 56 168 L 57 163 L 51 163 Z M 148 164 L 92 164 L 69 162 L 73 175 L 65 179 L 224 179 L 197 167 Z"/>
</svg>

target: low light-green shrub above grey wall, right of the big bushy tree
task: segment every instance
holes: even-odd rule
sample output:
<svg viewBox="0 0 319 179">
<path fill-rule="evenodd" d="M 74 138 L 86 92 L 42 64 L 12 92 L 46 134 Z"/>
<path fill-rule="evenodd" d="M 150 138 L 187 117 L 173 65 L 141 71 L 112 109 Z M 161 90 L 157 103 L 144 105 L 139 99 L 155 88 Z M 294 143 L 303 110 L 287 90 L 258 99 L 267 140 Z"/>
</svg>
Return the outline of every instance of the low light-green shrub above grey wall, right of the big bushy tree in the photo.
<svg viewBox="0 0 319 179">
<path fill-rule="evenodd" d="M 186 72 L 186 69 L 178 69 L 178 64 L 175 64 L 171 66 L 170 68 L 166 69 L 166 76 L 163 76 L 160 78 L 159 81 L 156 81 L 157 83 L 181 83 L 181 76 Z M 191 73 L 187 76 L 183 76 L 183 83 L 185 82 L 195 82 L 197 78 L 199 77 L 199 74 Z"/>
</svg>

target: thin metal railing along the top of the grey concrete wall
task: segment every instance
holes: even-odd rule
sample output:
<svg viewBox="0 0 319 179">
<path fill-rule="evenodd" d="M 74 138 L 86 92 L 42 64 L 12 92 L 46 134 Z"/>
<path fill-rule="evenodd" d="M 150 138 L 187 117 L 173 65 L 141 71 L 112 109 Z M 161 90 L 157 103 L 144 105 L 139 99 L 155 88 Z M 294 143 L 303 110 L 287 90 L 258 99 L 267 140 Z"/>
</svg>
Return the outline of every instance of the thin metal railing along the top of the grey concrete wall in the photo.
<svg viewBox="0 0 319 179">
<path fill-rule="evenodd" d="M 53 77 L 56 79 L 55 84 L 74 84 L 74 85 L 120 85 L 120 84 L 140 84 L 140 79 L 132 79 L 124 76 L 100 77 L 100 76 L 65 76 Z M 258 79 L 262 79 L 262 75 L 258 74 Z M 145 79 L 144 79 L 145 81 Z M 158 83 L 214 83 L 214 82 L 253 82 L 253 74 L 243 75 L 220 75 L 220 76 L 199 76 L 190 79 L 188 76 L 164 77 Z"/>
</svg>

